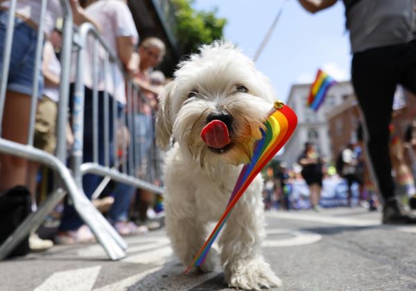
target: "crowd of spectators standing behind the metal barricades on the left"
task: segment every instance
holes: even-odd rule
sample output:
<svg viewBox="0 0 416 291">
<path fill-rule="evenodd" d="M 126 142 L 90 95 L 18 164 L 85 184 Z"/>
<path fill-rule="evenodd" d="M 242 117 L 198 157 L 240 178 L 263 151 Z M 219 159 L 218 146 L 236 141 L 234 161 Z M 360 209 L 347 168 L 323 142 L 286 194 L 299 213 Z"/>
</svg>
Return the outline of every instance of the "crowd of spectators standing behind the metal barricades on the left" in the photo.
<svg viewBox="0 0 416 291">
<path fill-rule="evenodd" d="M 134 139 L 138 143 L 139 162 L 137 177 L 149 180 L 145 177 L 150 172 L 148 159 L 155 155 L 153 148 L 154 118 L 157 110 L 157 95 L 163 89 L 166 78 L 161 71 L 155 71 L 155 67 L 162 62 L 166 48 L 164 42 L 157 37 L 140 39 L 127 1 L 124 0 L 71 0 L 73 21 L 77 25 L 85 22 L 93 24 L 110 45 L 121 61 L 121 69 L 115 62 L 110 63 L 108 71 L 98 73 L 98 88 L 94 88 L 94 71 L 92 58 L 94 58 L 94 42 L 87 42 L 86 62 L 83 67 L 84 78 L 82 80 L 85 94 L 84 106 L 84 130 L 83 130 L 83 163 L 94 161 L 93 136 L 94 127 L 98 127 L 98 164 L 105 166 L 115 165 L 116 159 L 110 149 L 113 143 L 121 156 L 132 155 L 132 149 L 128 148 L 128 141 Z M 0 1 L 0 51 L 3 51 L 7 30 L 8 9 L 10 1 Z M 26 144 L 28 142 L 29 112 L 31 110 L 31 95 L 33 91 L 33 70 L 35 68 L 35 44 L 37 39 L 37 27 L 40 25 L 40 1 L 22 0 L 17 2 L 15 13 L 15 31 L 12 42 L 12 54 L 10 57 L 10 71 L 6 91 L 6 101 L 2 123 L 2 137 L 10 141 Z M 39 96 L 37 101 L 37 113 L 35 118 L 35 133 L 33 145 L 53 154 L 56 147 L 56 118 L 59 102 L 60 87 L 60 46 L 62 44 L 62 16 L 60 1 L 50 0 L 46 6 L 44 20 L 45 42 L 43 46 L 42 66 L 40 67 L 40 79 L 38 80 Z M 140 41 L 139 41 L 140 40 Z M 104 54 L 105 55 L 105 54 Z M 100 55 L 98 66 L 105 70 L 105 59 Z M 3 67 L 0 59 L 0 68 Z M 24 69 L 21 69 L 21 68 Z M 76 67 L 73 62 L 72 68 Z M 73 113 L 73 100 L 75 94 L 74 71 L 71 74 L 69 86 L 69 116 Z M 139 87 L 139 94 L 133 94 L 131 104 L 127 102 L 125 78 L 129 78 Z M 93 99 L 94 89 L 98 90 L 98 124 L 108 124 L 107 132 L 103 126 L 94 125 Z M 107 100 L 107 104 L 105 104 Z M 113 116 L 113 100 L 116 101 L 115 115 Z M 133 108 L 132 105 L 136 105 Z M 107 109 L 107 112 L 105 110 Z M 132 113 L 135 123 L 135 132 L 129 132 L 124 124 L 123 116 Z M 19 120 L 19 123 L 16 123 Z M 113 123 L 116 123 L 116 134 L 113 136 Z M 135 134 L 135 136 L 134 136 Z M 107 139 L 107 143 L 105 143 Z M 73 144 L 71 131 L 71 118 L 67 125 L 67 147 Z M 107 155 L 105 154 L 107 152 Z M 128 159 L 127 159 L 128 160 Z M 31 197 L 31 211 L 35 211 L 37 199 L 40 164 L 28 161 L 12 155 L 0 155 L 0 204 L 7 204 L 6 197 L 17 197 L 16 193 L 24 193 Z M 126 166 L 126 165 L 124 165 Z M 128 166 L 128 165 L 127 165 Z M 155 176 L 155 175 L 153 175 Z M 151 177 L 152 183 L 160 184 L 159 177 Z M 92 199 L 92 195 L 98 186 L 105 186 L 103 177 L 93 174 L 83 176 L 83 191 Z M 155 217 L 156 211 L 163 208 L 157 205 L 160 197 L 155 193 L 140 190 L 127 184 L 111 182 L 103 187 L 102 193 L 98 193 L 94 205 L 103 212 L 114 229 L 121 235 L 147 233 L 149 229 L 159 227 L 159 222 L 149 220 Z M 160 204 L 160 203 L 159 203 Z M 62 206 L 63 205 L 63 206 Z M 84 224 L 69 199 L 65 199 L 58 211 L 59 226 L 53 238 L 54 243 L 74 244 L 89 243 L 94 241 L 94 235 L 89 227 Z M 156 207 L 155 207 L 156 206 Z M 11 222 L 12 218 L 2 213 L 2 223 Z M 21 219 L 19 219 L 19 222 Z M 17 227 L 18 222 L 14 222 Z M 14 229 L 10 228 L 10 231 Z M 3 240 L 7 238 L 8 234 Z M 33 250 L 47 249 L 53 245 L 51 240 L 42 240 L 36 233 L 32 233 L 28 243 Z"/>
</svg>

